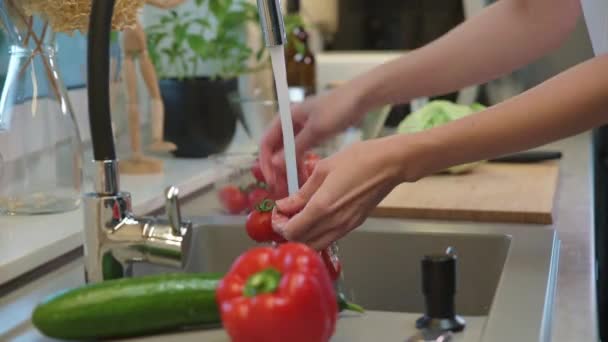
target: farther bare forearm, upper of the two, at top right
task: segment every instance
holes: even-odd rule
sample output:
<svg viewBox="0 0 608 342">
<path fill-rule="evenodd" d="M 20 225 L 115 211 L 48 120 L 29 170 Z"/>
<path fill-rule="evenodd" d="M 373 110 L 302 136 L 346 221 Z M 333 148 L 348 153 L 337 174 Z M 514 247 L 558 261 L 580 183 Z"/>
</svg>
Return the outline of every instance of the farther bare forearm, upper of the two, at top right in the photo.
<svg viewBox="0 0 608 342">
<path fill-rule="evenodd" d="M 425 47 L 353 80 L 366 109 L 449 93 L 511 72 L 560 46 L 579 0 L 501 0 Z"/>
</svg>

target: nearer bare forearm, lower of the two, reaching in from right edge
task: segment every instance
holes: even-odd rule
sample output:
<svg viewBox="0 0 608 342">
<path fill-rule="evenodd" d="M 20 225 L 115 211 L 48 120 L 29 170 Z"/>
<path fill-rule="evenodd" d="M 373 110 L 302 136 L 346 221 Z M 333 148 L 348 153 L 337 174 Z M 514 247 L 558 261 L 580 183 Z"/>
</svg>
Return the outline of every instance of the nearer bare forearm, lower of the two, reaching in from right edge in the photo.
<svg viewBox="0 0 608 342">
<path fill-rule="evenodd" d="M 537 147 L 608 122 L 608 55 L 499 105 L 386 144 L 412 181 L 462 163 Z M 404 148 L 415 145 L 415 148 Z M 400 149 L 398 151 L 397 149 Z M 413 155 L 415 154 L 415 155 Z M 439 157 L 440 156 L 440 157 Z"/>
</svg>

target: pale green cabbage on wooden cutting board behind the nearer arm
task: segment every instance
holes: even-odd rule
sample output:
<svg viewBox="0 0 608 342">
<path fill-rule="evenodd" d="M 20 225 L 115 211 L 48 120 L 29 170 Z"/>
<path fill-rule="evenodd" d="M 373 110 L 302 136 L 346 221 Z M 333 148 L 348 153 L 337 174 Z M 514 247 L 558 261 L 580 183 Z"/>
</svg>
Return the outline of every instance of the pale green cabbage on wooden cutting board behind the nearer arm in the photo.
<svg viewBox="0 0 608 342">
<path fill-rule="evenodd" d="M 418 111 L 408 115 L 397 128 L 398 133 L 416 133 L 458 120 L 467 115 L 486 109 L 484 105 L 474 103 L 470 106 L 455 104 L 450 101 L 435 100 Z M 451 167 L 445 172 L 460 174 L 473 170 L 482 162 L 475 162 Z"/>
</svg>

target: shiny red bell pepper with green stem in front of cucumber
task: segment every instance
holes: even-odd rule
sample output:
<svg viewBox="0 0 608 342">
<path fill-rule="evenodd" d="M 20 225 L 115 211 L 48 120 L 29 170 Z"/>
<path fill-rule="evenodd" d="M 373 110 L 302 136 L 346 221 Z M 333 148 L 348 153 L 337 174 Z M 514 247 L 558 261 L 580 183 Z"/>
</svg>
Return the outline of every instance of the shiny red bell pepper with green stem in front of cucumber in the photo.
<svg viewBox="0 0 608 342">
<path fill-rule="evenodd" d="M 239 257 L 217 289 L 233 342 L 326 342 L 338 318 L 323 261 L 303 244 L 259 247 Z"/>
</svg>

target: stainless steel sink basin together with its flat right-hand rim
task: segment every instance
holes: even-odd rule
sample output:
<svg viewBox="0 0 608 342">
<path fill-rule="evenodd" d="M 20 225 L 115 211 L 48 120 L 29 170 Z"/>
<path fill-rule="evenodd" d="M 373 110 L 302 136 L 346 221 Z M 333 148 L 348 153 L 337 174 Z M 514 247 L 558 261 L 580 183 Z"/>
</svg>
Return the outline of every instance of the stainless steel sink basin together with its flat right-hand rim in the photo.
<svg viewBox="0 0 608 342">
<path fill-rule="evenodd" d="M 195 219 L 195 226 L 187 271 L 226 272 L 238 255 L 255 246 L 245 233 L 244 217 Z M 459 314 L 487 317 L 484 336 L 517 332 L 527 337 L 521 341 L 549 339 L 559 251 L 553 230 L 369 219 L 339 245 L 341 286 L 368 310 L 423 312 L 420 259 L 451 246 L 458 254 Z M 134 271 L 166 269 L 138 265 Z"/>
</svg>

